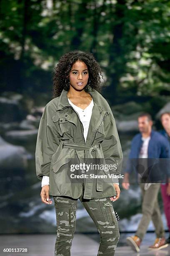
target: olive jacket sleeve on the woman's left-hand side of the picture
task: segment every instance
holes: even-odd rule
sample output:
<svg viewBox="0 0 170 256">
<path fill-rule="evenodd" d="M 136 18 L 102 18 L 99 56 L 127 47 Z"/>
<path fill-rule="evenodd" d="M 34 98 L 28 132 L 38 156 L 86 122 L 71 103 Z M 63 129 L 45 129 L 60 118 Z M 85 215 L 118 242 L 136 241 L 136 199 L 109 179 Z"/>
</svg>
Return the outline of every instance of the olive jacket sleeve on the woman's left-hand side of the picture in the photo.
<svg viewBox="0 0 170 256">
<path fill-rule="evenodd" d="M 60 144 L 60 135 L 52 122 L 51 115 L 52 110 L 46 105 L 40 119 L 35 148 L 36 175 L 40 180 L 43 176 L 49 177 L 52 155 Z"/>
</svg>

